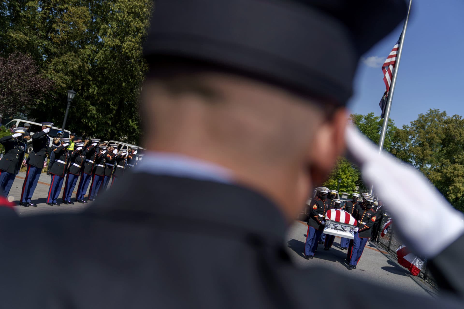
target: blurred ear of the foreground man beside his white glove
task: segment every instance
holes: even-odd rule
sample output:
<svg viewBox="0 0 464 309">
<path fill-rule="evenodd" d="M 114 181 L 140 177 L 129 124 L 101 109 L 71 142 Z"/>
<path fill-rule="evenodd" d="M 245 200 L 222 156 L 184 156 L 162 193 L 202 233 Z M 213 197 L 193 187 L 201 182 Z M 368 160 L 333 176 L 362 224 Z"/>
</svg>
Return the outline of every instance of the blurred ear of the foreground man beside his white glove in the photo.
<svg viewBox="0 0 464 309">
<path fill-rule="evenodd" d="M 345 151 L 345 129 L 348 112 L 345 108 L 336 109 L 330 120 L 321 123 L 316 129 L 309 150 L 310 175 L 314 187 L 322 185 L 335 167 L 337 159 Z"/>
</svg>

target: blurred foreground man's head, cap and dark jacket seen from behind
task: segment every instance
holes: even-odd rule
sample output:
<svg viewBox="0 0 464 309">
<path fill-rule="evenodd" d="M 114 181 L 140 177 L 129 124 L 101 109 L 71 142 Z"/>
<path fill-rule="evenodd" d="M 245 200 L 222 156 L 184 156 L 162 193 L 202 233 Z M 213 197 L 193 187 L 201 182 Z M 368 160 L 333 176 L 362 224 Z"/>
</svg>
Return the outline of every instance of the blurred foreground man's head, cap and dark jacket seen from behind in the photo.
<svg viewBox="0 0 464 309">
<path fill-rule="evenodd" d="M 356 64 L 402 1 L 158 0 L 154 12 L 143 164 L 82 214 L 0 222 L 3 307 L 302 308 L 317 294 L 335 308 L 462 308 L 462 230 L 429 251 L 455 298 L 301 269 L 284 245 L 344 150 Z"/>
</svg>

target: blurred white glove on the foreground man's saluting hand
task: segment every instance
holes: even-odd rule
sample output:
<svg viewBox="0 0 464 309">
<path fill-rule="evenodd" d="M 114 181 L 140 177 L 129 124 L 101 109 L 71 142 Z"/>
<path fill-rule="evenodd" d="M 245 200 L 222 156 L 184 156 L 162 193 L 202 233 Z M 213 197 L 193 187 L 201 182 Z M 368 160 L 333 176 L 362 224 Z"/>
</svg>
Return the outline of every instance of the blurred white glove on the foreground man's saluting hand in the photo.
<svg viewBox="0 0 464 309">
<path fill-rule="evenodd" d="M 422 173 L 386 152 L 379 155 L 378 148 L 352 126 L 346 141 L 350 159 L 360 166 L 364 181 L 374 185 L 413 252 L 433 258 L 464 233 L 464 215 Z M 399 199 L 398 192 L 407 194 Z"/>
</svg>

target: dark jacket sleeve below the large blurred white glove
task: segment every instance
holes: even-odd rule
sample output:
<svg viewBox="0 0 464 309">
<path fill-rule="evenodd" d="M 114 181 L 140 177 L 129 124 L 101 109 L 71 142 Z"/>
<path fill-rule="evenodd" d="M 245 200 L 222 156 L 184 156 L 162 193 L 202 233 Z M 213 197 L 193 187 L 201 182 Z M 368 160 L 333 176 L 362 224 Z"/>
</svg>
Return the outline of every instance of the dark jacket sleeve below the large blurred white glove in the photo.
<svg viewBox="0 0 464 309">
<path fill-rule="evenodd" d="M 427 269 L 432 272 L 438 287 L 464 299 L 464 235 L 427 261 Z"/>
</svg>

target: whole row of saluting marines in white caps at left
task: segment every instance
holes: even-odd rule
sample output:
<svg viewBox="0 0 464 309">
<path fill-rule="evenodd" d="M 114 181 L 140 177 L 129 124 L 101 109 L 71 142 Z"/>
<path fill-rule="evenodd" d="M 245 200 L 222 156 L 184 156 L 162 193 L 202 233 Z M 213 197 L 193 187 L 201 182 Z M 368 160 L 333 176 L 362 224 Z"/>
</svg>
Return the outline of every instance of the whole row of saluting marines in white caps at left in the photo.
<svg viewBox="0 0 464 309">
<path fill-rule="evenodd" d="M 136 164 L 137 148 L 133 147 L 129 151 L 117 150 L 117 145 L 99 145 L 99 139 L 91 139 L 91 144 L 84 147 L 84 143 L 75 144 L 73 151 L 68 151 L 69 139 L 61 139 L 58 147 L 49 151 L 48 145 L 50 132 L 53 123 L 43 122 L 42 131 L 32 135 L 32 152 L 26 160 L 27 172 L 21 190 L 20 205 L 29 207 L 37 206 L 31 202 L 32 195 L 39 181 L 40 173 L 46 164 L 47 157 L 54 157 L 51 169 L 50 189 L 47 195 L 47 204 L 60 205 L 57 202 L 61 192 L 61 186 L 66 178 L 63 202 L 71 202 L 71 194 L 76 187 L 77 178 L 81 176 L 77 187 L 76 201 L 86 203 L 84 195 L 90 184 L 88 200 L 94 201 L 98 192 L 108 186 L 110 178 L 112 183 L 121 177 L 124 170 L 133 168 Z M 26 133 L 25 128 L 13 129 L 13 135 L 0 139 L 0 143 L 5 147 L 5 155 L 0 160 L 0 187 L 7 196 L 14 178 L 19 172 L 20 164 L 24 158 L 26 143 L 23 138 Z M 52 153 L 51 153 L 52 152 Z M 53 154 L 54 156 L 51 156 Z M 140 155 L 140 158 L 142 155 Z"/>
</svg>

